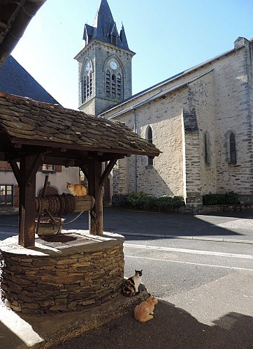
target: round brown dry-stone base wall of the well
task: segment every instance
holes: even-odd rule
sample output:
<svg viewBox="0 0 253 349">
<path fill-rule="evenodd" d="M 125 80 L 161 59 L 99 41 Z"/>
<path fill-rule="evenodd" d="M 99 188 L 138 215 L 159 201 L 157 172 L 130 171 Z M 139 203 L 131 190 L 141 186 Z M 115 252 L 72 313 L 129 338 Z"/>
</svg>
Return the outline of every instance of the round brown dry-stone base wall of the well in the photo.
<svg viewBox="0 0 253 349">
<path fill-rule="evenodd" d="M 62 256 L 1 252 L 2 297 L 14 311 L 47 313 L 99 306 L 120 295 L 123 240 Z M 99 251 L 101 250 L 101 251 Z"/>
</svg>

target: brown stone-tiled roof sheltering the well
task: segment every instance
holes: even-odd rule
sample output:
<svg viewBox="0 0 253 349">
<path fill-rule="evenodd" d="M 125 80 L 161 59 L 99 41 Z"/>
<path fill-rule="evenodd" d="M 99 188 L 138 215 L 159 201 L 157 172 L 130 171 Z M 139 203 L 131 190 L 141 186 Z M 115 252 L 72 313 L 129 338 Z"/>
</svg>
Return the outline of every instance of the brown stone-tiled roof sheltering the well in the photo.
<svg viewBox="0 0 253 349">
<path fill-rule="evenodd" d="M 1 131 L 13 144 L 124 155 L 158 156 L 160 153 L 154 144 L 119 121 L 7 94 L 0 94 Z M 1 139 L 3 137 L 0 137 L 0 151 Z"/>
</svg>

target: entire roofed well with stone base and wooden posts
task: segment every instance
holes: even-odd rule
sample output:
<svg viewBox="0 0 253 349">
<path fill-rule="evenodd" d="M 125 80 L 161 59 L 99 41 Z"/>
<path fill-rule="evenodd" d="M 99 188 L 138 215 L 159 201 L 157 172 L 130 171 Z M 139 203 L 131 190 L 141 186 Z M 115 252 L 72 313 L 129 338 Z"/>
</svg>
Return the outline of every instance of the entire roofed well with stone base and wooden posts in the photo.
<svg viewBox="0 0 253 349">
<path fill-rule="evenodd" d="M 2 298 L 15 311 L 47 313 L 117 297 L 124 238 L 103 232 L 103 184 L 119 158 L 159 150 L 124 124 L 6 94 L 0 94 L 0 135 L 0 160 L 10 163 L 20 189 L 17 242 L 0 246 Z M 93 200 L 89 231 L 68 230 L 50 243 L 36 238 L 36 172 L 43 164 L 85 173 Z"/>
</svg>

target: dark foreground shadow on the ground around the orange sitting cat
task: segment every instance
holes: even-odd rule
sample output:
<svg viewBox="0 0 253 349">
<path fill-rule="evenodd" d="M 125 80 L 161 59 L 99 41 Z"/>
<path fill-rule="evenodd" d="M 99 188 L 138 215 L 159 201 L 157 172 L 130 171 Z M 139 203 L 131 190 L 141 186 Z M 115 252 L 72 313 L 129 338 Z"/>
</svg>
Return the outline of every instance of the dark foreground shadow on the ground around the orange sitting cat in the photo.
<svg viewBox="0 0 253 349">
<path fill-rule="evenodd" d="M 214 322 L 213 326 L 204 325 L 186 311 L 159 300 L 149 322 L 137 322 L 131 311 L 54 348 L 253 348 L 252 317 L 229 313 Z"/>
</svg>

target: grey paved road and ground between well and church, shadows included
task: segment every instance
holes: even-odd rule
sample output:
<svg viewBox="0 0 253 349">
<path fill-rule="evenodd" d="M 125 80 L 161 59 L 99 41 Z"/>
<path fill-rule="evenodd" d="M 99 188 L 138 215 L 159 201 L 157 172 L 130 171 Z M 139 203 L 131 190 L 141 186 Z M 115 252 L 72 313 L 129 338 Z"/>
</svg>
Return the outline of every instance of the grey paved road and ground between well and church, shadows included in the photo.
<svg viewBox="0 0 253 349">
<path fill-rule="evenodd" d="M 159 297 L 154 319 L 141 324 L 129 312 L 53 348 L 252 349 L 252 216 L 106 207 L 104 230 L 126 237 L 125 276 L 143 269 L 143 283 Z M 87 229 L 87 214 L 65 228 Z M 17 216 L 0 217 L 0 238 L 13 234 Z"/>
</svg>

